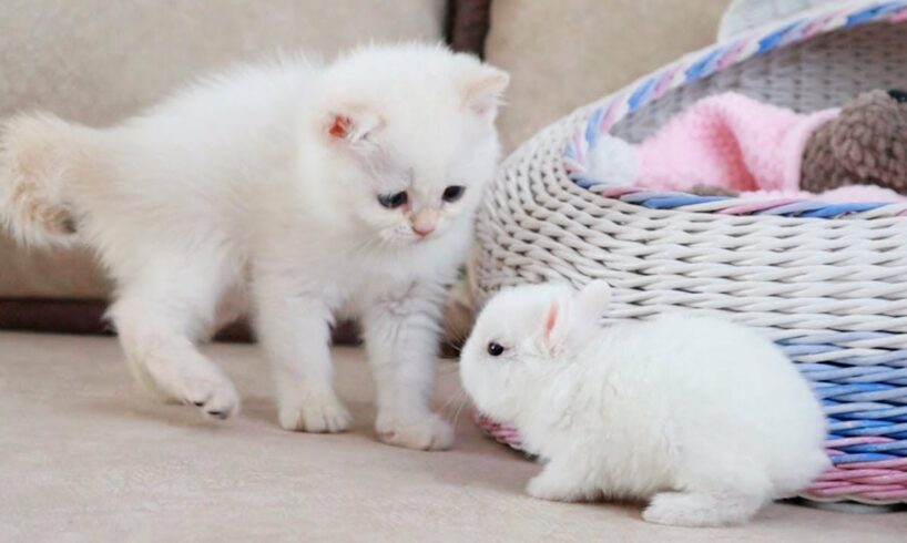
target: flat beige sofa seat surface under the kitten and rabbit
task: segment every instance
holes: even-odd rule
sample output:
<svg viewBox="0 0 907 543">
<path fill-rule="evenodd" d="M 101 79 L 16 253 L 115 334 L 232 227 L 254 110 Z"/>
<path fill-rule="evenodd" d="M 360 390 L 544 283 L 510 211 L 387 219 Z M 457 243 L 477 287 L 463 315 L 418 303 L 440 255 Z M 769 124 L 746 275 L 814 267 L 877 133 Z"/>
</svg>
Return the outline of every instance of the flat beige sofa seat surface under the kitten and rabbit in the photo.
<svg viewBox="0 0 907 543">
<path fill-rule="evenodd" d="M 360 349 L 336 349 L 351 433 L 275 424 L 252 346 L 215 345 L 243 413 L 225 423 L 133 392 L 109 338 L 0 334 L 0 541 L 904 541 L 907 514 L 776 504 L 746 527 L 653 526 L 639 508 L 522 494 L 538 470 L 463 413 L 456 449 L 373 440 Z M 456 397 L 445 362 L 438 398 Z M 452 414 L 454 402 L 448 408 Z"/>
</svg>

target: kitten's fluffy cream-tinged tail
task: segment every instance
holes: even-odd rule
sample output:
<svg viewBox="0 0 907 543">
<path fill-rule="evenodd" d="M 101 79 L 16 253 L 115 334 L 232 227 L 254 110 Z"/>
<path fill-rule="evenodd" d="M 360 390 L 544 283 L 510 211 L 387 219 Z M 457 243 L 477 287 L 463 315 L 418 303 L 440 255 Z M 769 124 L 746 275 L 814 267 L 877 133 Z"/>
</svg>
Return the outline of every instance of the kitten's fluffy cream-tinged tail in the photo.
<svg viewBox="0 0 907 543">
<path fill-rule="evenodd" d="M 78 239 L 72 184 L 96 173 L 96 131 L 49 114 L 0 123 L 0 219 L 21 243 Z"/>
</svg>

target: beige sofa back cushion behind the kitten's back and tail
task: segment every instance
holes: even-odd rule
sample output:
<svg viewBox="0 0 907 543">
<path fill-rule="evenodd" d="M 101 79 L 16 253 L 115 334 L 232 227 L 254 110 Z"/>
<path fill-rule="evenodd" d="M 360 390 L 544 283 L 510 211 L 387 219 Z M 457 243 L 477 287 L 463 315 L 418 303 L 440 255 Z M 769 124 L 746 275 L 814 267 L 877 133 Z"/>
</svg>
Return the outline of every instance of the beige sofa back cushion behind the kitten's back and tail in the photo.
<svg viewBox="0 0 907 543">
<path fill-rule="evenodd" d="M 278 48 L 333 55 L 368 40 L 438 41 L 444 17 L 444 0 L 8 1 L 0 4 L 0 117 L 45 109 L 103 125 L 225 63 Z M 26 252 L 1 238 L 0 263 L 0 298 L 109 293 L 84 252 Z"/>
</svg>

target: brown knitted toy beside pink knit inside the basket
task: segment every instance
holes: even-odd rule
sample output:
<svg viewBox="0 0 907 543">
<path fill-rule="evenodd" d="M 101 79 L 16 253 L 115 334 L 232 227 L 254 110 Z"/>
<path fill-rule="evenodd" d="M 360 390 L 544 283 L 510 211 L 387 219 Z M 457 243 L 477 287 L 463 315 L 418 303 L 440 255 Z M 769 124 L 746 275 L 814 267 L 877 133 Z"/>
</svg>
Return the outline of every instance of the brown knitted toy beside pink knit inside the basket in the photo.
<svg viewBox="0 0 907 543">
<path fill-rule="evenodd" d="M 907 194 L 907 92 L 860 94 L 809 137 L 799 187 L 819 194 L 845 185 L 877 185 Z M 712 185 L 696 185 L 692 192 L 737 195 Z"/>
</svg>

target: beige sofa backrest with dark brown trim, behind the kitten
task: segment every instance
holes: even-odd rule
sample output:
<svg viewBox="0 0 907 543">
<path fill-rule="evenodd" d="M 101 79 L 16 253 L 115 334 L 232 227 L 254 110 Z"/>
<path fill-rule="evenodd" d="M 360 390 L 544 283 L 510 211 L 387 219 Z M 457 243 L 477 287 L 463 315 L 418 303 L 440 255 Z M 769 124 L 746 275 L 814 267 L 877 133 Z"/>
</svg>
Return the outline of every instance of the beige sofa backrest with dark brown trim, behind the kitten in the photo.
<svg viewBox="0 0 907 543">
<path fill-rule="evenodd" d="M 513 74 L 500 119 L 510 151 L 571 109 L 713 41 L 725 3 L 13 0 L 0 4 L 0 117 L 48 109 L 103 125 L 193 74 L 276 50 L 330 57 L 366 40 L 447 39 Z M 0 329 L 103 331 L 111 285 L 85 252 L 26 250 L 0 232 Z"/>
</svg>

